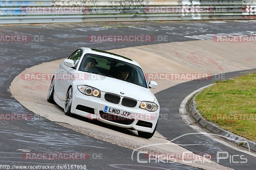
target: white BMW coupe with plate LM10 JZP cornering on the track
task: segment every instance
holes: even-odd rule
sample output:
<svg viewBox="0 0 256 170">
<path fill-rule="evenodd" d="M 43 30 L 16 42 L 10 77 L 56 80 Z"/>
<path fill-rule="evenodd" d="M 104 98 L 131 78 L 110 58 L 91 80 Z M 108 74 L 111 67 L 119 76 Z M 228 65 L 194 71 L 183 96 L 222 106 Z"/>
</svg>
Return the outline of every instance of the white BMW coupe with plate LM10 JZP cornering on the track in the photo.
<svg viewBox="0 0 256 170">
<path fill-rule="evenodd" d="M 138 131 L 151 138 L 157 127 L 159 103 L 149 90 L 140 65 L 118 54 L 81 47 L 53 74 L 47 101 L 74 114 Z"/>
</svg>

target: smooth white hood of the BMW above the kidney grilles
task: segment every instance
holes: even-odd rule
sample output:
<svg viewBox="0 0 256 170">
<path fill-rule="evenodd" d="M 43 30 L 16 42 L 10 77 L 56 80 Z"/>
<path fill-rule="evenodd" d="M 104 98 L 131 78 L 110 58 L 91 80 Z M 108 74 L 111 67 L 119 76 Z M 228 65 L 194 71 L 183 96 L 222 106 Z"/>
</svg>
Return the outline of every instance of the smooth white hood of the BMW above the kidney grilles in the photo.
<svg viewBox="0 0 256 170">
<path fill-rule="evenodd" d="M 127 81 L 102 76 L 103 80 L 83 80 L 85 85 L 99 89 L 102 92 L 114 93 L 119 96 L 130 97 L 138 101 L 154 102 L 154 94 L 147 88 Z M 122 95 L 120 92 L 124 92 Z"/>
</svg>

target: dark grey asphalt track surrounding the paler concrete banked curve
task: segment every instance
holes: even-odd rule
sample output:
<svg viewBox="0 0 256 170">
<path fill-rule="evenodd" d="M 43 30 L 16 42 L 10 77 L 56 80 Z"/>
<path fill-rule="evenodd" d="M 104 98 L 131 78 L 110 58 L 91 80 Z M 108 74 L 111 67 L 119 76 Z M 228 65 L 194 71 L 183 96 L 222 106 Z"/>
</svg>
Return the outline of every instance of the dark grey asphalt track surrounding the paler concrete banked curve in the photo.
<svg viewBox="0 0 256 170">
<path fill-rule="evenodd" d="M 8 87 L 13 78 L 25 68 L 68 57 L 81 46 L 102 50 L 117 49 L 129 46 L 140 46 L 165 42 L 204 39 L 206 34 L 253 32 L 254 22 L 226 23 L 209 22 L 139 22 L 139 23 L 86 23 L 86 24 L 47 24 L 47 25 L 0 25 L 0 34 L 28 35 L 28 42 L 0 42 L 0 113 L 29 113 L 30 121 L 1 121 L 1 165 L 86 165 L 87 169 L 191 169 L 190 166 L 178 163 L 141 164 L 131 160 L 132 150 L 103 142 L 75 131 L 54 124 L 42 117 L 36 117 L 21 106 L 9 93 Z M 151 35 L 151 42 L 90 42 L 89 35 Z M 203 36 L 198 36 L 203 35 Z M 167 39 L 164 40 L 164 36 Z M 190 36 L 190 37 L 189 37 Z M 38 40 L 41 40 L 38 42 Z M 164 41 L 163 41 L 164 40 Z M 231 76 L 234 74 L 230 74 Z M 210 82 L 187 82 L 157 93 L 162 108 L 161 113 L 168 113 L 172 120 L 160 121 L 157 131 L 168 139 L 173 139 L 188 132 L 193 132 L 179 115 L 180 102 L 194 89 Z M 19 88 L 19 87 L 17 87 Z M 185 88 L 185 89 L 184 89 Z M 167 93 L 168 92 L 168 93 Z M 170 95 L 166 95 L 170 94 Z M 29 94 L 28 94 L 29 95 Z M 176 115 L 176 116 L 175 116 Z M 167 131 L 166 128 L 169 130 Z M 192 135 L 175 143 L 200 142 L 205 137 Z M 214 143 L 230 154 L 239 152 L 222 144 Z M 184 146 L 192 152 L 207 153 L 209 147 Z M 22 152 L 21 149 L 25 149 Z M 24 150 L 23 150 L 24 151 Z M 22 159 L 22 153 L 88 153 L 88 160 L 42 160 Z M 253 169 L 255 158 L 246 155 L 248 162 L 232 164 L 225 161 L 222 165 L 242 169 Z M 244 168 L 243 168 L 244 169 Z"/>
</svg>

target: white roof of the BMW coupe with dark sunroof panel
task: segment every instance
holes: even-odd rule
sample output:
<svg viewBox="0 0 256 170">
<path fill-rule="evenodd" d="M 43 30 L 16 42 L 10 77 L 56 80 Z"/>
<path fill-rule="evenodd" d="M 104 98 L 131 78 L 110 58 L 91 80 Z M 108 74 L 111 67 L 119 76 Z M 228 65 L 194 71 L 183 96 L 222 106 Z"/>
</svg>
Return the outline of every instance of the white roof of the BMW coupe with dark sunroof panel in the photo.
<svg viewBox="0 0 256 170">
<path fill-rule="evenodd" d="M 94 48 L 81 47 L 81 49 L 87 50 L 87 53 L 97 54 L 97 55 L 102 55 L 102 56 L 114 58 L 114 59 L 116 59 L 116 60 L 125 61 L 125 62 L 134 64 L 134 65 L 140 67 L 140 65 L 139 65 L 139 63 L 138 63 L 137 61 L 134 61 L 134 60 L 132 60 L 132 59 L 130 59 L 130 58 L 124 57 L 124 56 L 119 55 L 119 54 L 110 53 L 110 52 L 108 52 L 108 51 L 103 51 L 103 50 L 94 49 Z"/>
</svg>

